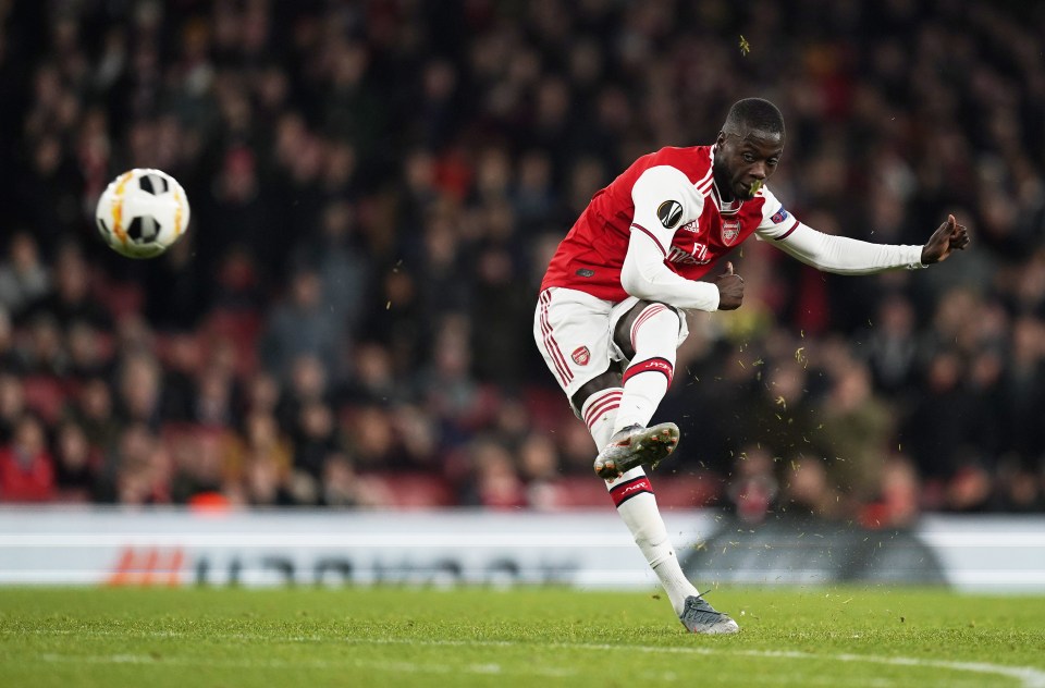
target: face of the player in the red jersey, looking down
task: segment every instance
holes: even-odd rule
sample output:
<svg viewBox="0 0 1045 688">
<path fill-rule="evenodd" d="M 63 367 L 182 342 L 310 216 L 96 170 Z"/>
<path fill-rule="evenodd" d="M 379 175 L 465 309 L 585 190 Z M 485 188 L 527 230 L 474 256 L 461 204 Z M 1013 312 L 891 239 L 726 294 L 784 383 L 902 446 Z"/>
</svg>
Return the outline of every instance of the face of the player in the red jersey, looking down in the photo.
<svg viewBox="0 0 1045 688">
<path fill-rule="evenodd" d="M 718 134 L 715 152 L 715 183 L 734 198 L 753 198 L 773 176 L 784 153 L 784 137 L 758 132 Z"/>
</svg>

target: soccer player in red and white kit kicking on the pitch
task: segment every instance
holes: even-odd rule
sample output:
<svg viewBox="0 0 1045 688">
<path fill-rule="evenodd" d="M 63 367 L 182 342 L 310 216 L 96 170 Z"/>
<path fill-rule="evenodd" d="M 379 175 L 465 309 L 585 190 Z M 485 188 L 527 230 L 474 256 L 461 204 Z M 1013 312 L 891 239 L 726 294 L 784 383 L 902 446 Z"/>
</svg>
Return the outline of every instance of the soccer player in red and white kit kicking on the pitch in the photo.
<svg viewBox="0 0 1045 688">
<path fill-rule="evenodd" d="M 743 279 L 733 265 L 700 281 L 751 234 L 819 270 L 915 270 L 969 244 L 949 216 L 924 246 L 884 245 L 817 232 L 765 186 L 784 153 L 784 118 L 767 100 L 736 102 L 713 146 L 662 148 L 600 191 L 560 244 L 541 284 L 533 335 L 591 431 L 594 469 L 683 625 L 733 634 L 687 580 L 642 465 L 656 465 L 678 427 L 647 427 L 675 373 L 688 333 L 683 311 L 733 310 Z"/>
</svg>

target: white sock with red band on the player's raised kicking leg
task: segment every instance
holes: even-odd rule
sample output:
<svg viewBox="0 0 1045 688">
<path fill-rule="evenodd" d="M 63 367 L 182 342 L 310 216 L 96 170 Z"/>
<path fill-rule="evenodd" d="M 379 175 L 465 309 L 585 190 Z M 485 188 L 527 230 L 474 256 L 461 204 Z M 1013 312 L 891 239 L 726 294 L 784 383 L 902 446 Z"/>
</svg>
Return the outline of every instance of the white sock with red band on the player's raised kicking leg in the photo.
<svg viewBox="0 0 1045 688">
<path fill-rule="evenodd" d="M 631 324 L 635 358 L 624 371 L 624 394 L 613 430 L 646 427 L 675 374 L 678 315 L 663 304 L 648 306 Z M 601 447 L 600 447 L 601 449 Z"/>
</svg>

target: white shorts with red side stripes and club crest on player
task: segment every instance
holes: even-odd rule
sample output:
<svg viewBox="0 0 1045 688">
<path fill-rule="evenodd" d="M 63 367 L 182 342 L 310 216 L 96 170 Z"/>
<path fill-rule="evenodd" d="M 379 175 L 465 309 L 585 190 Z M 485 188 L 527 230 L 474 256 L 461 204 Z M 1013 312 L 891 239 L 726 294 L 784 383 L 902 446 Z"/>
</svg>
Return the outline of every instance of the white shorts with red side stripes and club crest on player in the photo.
<svg viewBox="0 0 1045 688">
<path fill-rule="evenodd" d="M 577 390 L 593 378 L 614 364 L 627 365 L 627 357 L 613 341 L 613 331 L 637 303 L 635 296 L 614 303 L 557 286 L 541 292 L 533 314 L 533 339 L 570 404 Z M 676 346 L 689 335 L 681 312 L 679 321 Z"/>
</svg>

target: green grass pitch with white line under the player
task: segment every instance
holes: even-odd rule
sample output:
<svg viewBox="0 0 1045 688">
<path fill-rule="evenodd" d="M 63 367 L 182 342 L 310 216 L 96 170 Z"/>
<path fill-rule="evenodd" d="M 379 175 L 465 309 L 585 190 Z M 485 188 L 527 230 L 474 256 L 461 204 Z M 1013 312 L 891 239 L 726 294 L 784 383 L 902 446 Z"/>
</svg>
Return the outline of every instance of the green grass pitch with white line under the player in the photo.
<svg viewBox="0 0 1045 688">
<path fill-rule="evenodd" d="M 1045 598 L 715 590 L 687 635 L 651 592 L 0 588 L 0 686 L 1045 687 Z"/>
</svg>

